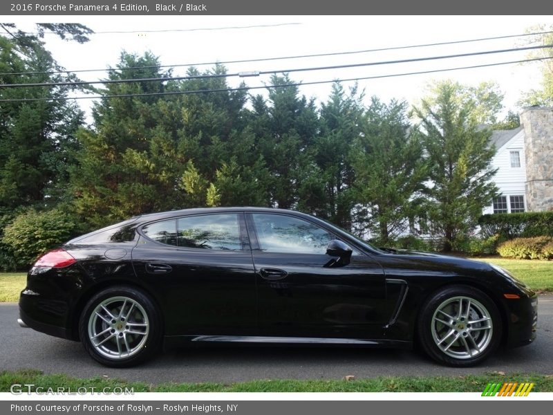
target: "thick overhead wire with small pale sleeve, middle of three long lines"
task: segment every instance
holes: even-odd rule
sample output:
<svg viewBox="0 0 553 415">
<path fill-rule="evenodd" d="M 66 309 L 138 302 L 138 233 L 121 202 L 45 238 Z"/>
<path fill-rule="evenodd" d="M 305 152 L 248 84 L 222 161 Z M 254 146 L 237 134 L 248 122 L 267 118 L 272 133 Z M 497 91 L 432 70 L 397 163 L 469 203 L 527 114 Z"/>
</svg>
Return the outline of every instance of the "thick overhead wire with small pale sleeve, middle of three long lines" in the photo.
<svg viewBox="0 0 553 415">
<path fill-rule="evenodd" d="M 21 87 L 30 87 L 30 86 L 77 86 L 77 85 L 92 85 L 92 84 L 124 84 L 129 82 L 166 82 L 166 81 L 180 81 L 180 80 L 193 80 L 193 79 L 204 79 L 204 78 L 221 78 L 221 77 L 237 77 L 237 76 L 258 76 L 258 75 L 269 75 L 274 73 L 292 73 L 292 72 L 306 72 L 306 71 L 326 71 L 328 69 L 343 69 L 343 68 L 359 68 L 362 66 L 377 66 L 377 65 L 388 65 L 388 64 L 404 64 L 408 62 L 423 62 L 423 61 L 432 61 L 438 59 L 451 59 L 455 57 L 467 57 L 467 56 L 479 56 L 479 55 L 492 55 L 496 53 L 509 53 L 509 52 L 518 52 L 521 50 L 533 50 L 533 49 L 543 49 L 543 48 L 553 48 L 553 45 L 544 45 L 544 46 L 526 46 L 524 48 L 510 48 L 510 49 L 499 49 L 499 50 L 485 50 L 481 52 L 470 52 L 470 53 L 458 53 L 456 55 L 441 55 L 441 56 L 431 56 L 431 57 L 413 57 L 410 59 L 396 59 L 391 61 L 380 61 L 380 62 L 365 62 L 362 64 L 346 64 L 346 65 L 333 65 L 333 66 L 312 66 L 310 68 L 288 68 L 288 69 L 278 69 L 272 71 L 255 71 L 254 73 L 221 73 L 213 75 L 191 75 L 191 76 L 178 76 L 178 77 L 149 77 L 149 78 L 138 78 L 138 79 L 124 79 L 124 80 L 104 80 L 104 81 L 77 81 L 77 82 L 38 82 L 38 83 L 29 83 L 29 84 L 0 84 L 0 88 L 21 88 Z"/>
</svg>

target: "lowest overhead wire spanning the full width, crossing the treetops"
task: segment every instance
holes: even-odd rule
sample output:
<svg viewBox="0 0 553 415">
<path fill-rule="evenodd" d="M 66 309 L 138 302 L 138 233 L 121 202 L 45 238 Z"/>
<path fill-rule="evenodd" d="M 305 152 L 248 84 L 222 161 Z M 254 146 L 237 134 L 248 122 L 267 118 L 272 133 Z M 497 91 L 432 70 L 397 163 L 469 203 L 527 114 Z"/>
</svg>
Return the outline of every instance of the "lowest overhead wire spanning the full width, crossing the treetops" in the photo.
<svg viewBox="0 0 553 415">
<path fill-rule="evenodd" d="M 382 79 L 387 77 L 400 77 L 400 76 L 410 76 L 410 75 L 422 75 L 427 73 L 438 73 L 438 72 L 447 72 L 447 71 L 460 71 L 463 69 L 474 69 L 474 68 L 485 68 L 489 66 L 500 66 L 508 64 L 521 64 L 523 62 L 534 62 L 534 61 L 543 61 L 553 59 L 553 57 L 536 57 L 533 59 L 521 59 L 516 61 L 509 62 L 497 62 L 494 64 L 481 64 L 481 65 L 472 65 L 472 66 L 459 66 L 456 68 L 444 68 L 444 69 L 433 69 L 429 71 L 418 71 L 418 72 L 407 72 L 407 73 L 394 73 L 388 75 L 375 75 L 368 77 L 355 77 L 355 78 L 346 78 L 346 79 L 335 79 L 335 80 L 325 80 L 325 81 L 312 81 L 312 82 L 294 82 L 290 84 L 283 85 L 263 85 L 263 86 L 238 86 L 237 88 L 222 88 L 222 89 L 207 89 L 207 90 L 197 90 L 197 91 L 168 91 L 168 92 L 151 92 L 151 93 L 127 93 L 127 94 L 118 94 L 118 95 L 95 95 L 95 96 L 82 96 L 82 97 L 64 97 L 64 98 L 17 98 L 17 99 L 0 99 L 0 102 L 29 102 L 29 101 L 67 101 L 67 100 L 95 100 L 95 99 L 104 99 L 104 98 L 136 98 L 136 97 L 151 97 L 157 95 L 189 95 L 196 93 L 215 93 L 215 92 L 234 92 L 234 91 L 249 91 L 251 89 L 277 89 L 277 88 L 287 88 L 289 86 L 306 86 L 306 85 L 316 85 L 316 84 L 330 84 L 333 82 L 357 82 L 361 80 L 375 80 Z"/>
</svg>

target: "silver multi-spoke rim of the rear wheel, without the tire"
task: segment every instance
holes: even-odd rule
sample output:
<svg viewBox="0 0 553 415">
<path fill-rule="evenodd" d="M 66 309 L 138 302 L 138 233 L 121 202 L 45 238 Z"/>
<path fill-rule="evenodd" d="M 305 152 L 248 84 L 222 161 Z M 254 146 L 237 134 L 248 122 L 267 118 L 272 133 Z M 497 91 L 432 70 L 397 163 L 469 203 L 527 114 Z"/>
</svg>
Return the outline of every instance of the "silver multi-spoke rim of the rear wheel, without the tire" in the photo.
<svg viewBox="0 0 553 415">
<path fill-rule="evenodd" d="M 98 353 L 120 360 L 138 353 L 148 339 L 149 321 L 144 308 L 129 297 L 111 297 L 88 317 L 88 338 Z"/>
</svg>

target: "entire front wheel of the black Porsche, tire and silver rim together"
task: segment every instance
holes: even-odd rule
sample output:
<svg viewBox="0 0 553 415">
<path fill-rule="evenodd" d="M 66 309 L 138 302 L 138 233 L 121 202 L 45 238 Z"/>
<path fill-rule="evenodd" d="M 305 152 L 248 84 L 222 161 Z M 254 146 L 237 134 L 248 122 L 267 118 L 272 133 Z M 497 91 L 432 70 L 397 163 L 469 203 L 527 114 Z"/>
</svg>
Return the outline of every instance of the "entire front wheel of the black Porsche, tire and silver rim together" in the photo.
<svg viewBox="0 0 553 415">
<path fill-rule="evenodd" d="M 442 288 L 422 305 L 418 317 L 420 346 L 444 365 L 469 367 L 498 348 L 503 322 L 496 304 L 469 286 Z"/>
</svg>

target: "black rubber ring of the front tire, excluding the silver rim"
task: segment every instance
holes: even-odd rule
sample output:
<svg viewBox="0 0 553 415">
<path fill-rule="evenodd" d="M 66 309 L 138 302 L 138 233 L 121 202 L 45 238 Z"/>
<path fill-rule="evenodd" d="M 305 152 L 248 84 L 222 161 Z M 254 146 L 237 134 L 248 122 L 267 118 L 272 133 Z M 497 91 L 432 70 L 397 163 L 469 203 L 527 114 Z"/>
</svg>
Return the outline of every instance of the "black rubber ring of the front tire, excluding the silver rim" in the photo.
<svg viewBox="0 0 553 415">
<path fill-rule="evenodd" d="M 476 301 L 485 306 L 487 311 L 489 311 L 491 322 L 494 327 L 491 342 L 485 351 L 478 354 L 478 356 L 469 359 L 456 359 L 444 354 L 435 344 L 431 333 L 432 318 L 436 308 L 438 308 L 438 306 L 447 299 L 460 296 L 476 299 Z M 503 322 L 496 304 L 478 288 L 461 285 L 448 286 L 431 295 L 427 302 L 422 305 L 417 327 L 420 346 L 427 353 L 427 355 L 437 362 L 453 367 L 470 367 L 478 365 L 478 363 L 487 359 L 492 353 L 494 353 L 494 351 L 496 351 L 500 345 L 503 335 Z"/>
</svg>

